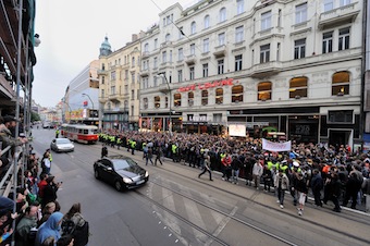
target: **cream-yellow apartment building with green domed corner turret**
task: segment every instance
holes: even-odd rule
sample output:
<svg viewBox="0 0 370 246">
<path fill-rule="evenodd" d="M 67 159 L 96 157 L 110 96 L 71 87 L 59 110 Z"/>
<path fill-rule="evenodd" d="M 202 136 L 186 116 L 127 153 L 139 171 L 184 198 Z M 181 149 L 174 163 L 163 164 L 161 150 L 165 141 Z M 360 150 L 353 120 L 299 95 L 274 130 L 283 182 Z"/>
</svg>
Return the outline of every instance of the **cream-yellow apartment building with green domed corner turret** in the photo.
<svg viewBox="0 0 370 246">
<path fill-rule="evenodd" d="M 112 52 L 108 37 L 99 56 L 99 106 L 102 127 L 138 130 L 139 122 L 139 72 L 140 34 L 132 41 Z"/>
</svg>

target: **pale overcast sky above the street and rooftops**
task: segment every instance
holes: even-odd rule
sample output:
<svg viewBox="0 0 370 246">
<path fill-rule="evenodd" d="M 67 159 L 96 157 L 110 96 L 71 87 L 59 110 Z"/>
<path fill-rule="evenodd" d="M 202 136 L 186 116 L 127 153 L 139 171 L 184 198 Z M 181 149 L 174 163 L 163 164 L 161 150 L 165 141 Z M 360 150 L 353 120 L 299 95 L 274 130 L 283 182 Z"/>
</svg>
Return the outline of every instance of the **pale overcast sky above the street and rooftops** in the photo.
<svg viewBox="0 0 370 246">
<path fill-rule="evenodd" d="M 178 2 L 184 9 L 197 0 L 36 0 L 33 99 L 55 107 L 70 82 L 99 59 L 106 35 L 112 51 L 158 23 L 159 13 Z"/>
</svg>

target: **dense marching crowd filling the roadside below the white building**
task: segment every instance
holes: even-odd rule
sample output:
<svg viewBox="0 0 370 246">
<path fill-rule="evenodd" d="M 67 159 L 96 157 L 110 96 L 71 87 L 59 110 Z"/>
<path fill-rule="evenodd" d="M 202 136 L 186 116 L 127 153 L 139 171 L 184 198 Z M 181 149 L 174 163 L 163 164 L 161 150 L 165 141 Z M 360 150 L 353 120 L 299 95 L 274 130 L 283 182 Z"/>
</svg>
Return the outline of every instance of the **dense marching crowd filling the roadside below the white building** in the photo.
<svg viewBox="0 0 370 246">
<path fill-rule="evenodd" d="M 199 177 L 209 172 L 210 181 L 211 171 L 217 170 L 223 173 L 224 181 L 234 184 L 243 177 L 247 186 L 259 189 L 263 183 L 266 192 L 276 194 L 281 208 L 285 193 L 291 194 L 299 216 L 309 193 L 316 206 L 332 201 L 336 212 L 348 204 L 357 209 L 365 202 L 365 194 L 370 194 L 370 155 L 344 145 L 293 142 L 291 151 L 272 152 L 262 149 L 261 138 L 116 130 L 101 132 L 99 140 L 106 148 L 127 148 L 132 155 L 139 150 L 143 158 L 151 152 L 156 159 L 163 156 L 202 169 Z"/>
</svg>

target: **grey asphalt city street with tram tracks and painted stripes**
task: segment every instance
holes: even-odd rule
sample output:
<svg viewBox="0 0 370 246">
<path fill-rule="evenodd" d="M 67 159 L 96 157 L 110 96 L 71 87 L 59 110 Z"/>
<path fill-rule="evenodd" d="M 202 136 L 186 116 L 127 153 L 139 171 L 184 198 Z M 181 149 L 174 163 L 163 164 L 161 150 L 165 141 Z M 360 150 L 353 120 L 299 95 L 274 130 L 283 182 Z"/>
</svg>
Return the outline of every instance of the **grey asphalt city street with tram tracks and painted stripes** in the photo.
<svg viewBox="0 0 370 246">
<path fill-rule="evenodd" d="M 41 158 L 54 137 L 53 130 L 34 128 L 34 146 Z M 316 208 L 308 202 L 297 214 L 286 195 L 281 209 L 272 193 L 237 185 L 213 173 L 165 160 L 145 165 L 143 152 L 108 148 L 109 155 L 131 156 L 149 171 L 149 182 L 118 193 L 94 177 L 94 161 L 101 144 L 75 143 L 75 151 L 52 152 L 51 173 L 63 185 L 58 192 L 61 211 L 74 202 L 90 225 L 90 246 L 108 245 L 369 245 L 369 214 L 332 211 L 332 204 Z"/>
</svg>

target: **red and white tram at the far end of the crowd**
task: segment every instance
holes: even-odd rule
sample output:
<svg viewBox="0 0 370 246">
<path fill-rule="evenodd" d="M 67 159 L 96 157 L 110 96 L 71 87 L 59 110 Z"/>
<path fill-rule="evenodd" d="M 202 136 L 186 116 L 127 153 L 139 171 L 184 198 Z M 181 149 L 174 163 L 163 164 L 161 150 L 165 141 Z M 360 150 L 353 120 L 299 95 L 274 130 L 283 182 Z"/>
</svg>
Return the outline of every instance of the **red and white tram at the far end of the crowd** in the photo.
<svg viewBox="0 0 370 246">
<path fill-rule="evenodd" d="M 62 124 L 61 135 L 73 142 L 96 144 L 98 140 L 98 126 L 84 124 Z"/>
</svg>

